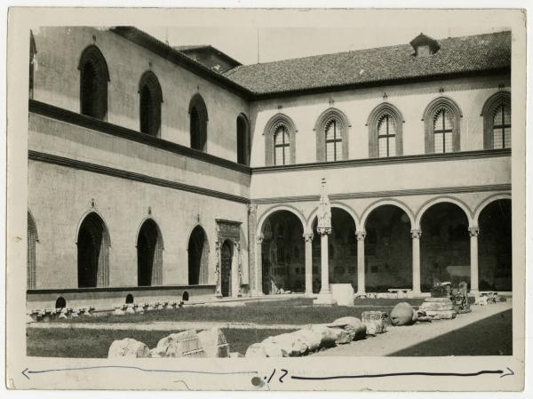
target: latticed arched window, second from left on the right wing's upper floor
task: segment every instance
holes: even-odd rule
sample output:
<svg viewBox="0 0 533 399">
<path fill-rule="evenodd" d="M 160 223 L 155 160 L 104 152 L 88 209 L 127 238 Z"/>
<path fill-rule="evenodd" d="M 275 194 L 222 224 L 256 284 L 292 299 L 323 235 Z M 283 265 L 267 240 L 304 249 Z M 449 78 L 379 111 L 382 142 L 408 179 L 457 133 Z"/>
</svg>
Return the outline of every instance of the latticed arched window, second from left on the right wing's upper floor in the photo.
<svg viewBox="0 0 533 399">
<path fill-rule="evenodd" d="M 346 116 L 336 108 L 322 112 L 314 125 L 316 160 L 341 161 L 348 158 L 348 127 Z"/>
</svg>

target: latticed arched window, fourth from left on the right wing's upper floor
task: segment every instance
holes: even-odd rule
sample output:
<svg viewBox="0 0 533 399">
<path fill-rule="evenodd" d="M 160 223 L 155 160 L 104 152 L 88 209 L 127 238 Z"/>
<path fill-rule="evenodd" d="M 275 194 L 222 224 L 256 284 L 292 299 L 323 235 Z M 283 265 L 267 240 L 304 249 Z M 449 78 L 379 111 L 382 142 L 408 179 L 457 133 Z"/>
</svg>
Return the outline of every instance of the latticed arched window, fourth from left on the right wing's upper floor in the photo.
<svg viewBox="0 0 533 399">
<path fill-rule="evenodd" d="M 426 108 L 426 154 L 443 154 L 460 151 L 461 110 L 446 97 L 433 100 Z"/>
</svg>

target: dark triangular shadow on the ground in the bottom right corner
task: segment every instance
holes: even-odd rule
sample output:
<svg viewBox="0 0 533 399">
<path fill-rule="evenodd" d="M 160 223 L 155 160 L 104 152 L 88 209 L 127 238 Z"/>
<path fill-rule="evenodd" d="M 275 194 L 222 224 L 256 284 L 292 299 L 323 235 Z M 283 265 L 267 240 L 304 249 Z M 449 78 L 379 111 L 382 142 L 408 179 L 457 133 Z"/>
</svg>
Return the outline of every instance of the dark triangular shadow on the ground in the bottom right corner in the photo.
<svg viewBox="0 0 533 399">
<path fill-rule="evenodd" d="M 451 355 L 513 355 L 513 309 L 491 315 L 479 322 L 466 325 L 440 337 L 428 339 L 389 356 Z"/>
</svg>

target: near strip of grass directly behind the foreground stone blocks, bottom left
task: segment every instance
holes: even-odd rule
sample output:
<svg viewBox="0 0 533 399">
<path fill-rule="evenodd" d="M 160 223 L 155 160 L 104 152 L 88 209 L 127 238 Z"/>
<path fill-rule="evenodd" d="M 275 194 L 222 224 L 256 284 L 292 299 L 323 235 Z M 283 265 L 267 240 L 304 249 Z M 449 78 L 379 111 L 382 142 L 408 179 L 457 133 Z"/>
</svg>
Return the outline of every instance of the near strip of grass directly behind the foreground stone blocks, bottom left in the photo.
<svg viewBox="0 0 533 399">
<path fill-rule="evenodd" d="M 246 353 L 246 349 L 271 335 L 288 330 L 223 329 L 231 352 Z M 74 328 L 28 328 L 26 330 L 28 356 L 42 357 L 107 357 L 107 350 L 115 339 L 133 338 L 153 348 L 157 341 L 179 331 L 123 331 L 88 330 Z"/>
</svg>

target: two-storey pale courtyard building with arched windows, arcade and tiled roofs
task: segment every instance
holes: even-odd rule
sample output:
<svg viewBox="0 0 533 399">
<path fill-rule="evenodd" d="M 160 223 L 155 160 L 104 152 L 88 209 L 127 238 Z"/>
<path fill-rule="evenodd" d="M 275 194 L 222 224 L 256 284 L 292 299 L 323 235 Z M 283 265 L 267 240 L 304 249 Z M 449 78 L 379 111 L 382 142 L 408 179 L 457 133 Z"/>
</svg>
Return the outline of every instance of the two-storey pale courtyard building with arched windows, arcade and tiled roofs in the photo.
<svg viewBox="0 0 533 399">
<path fill-rule="evenodd" d="M 512 291 L 510 32 L 241 65 L 41 28 L 29 77 L 28 307 Z"/>
</svg>

